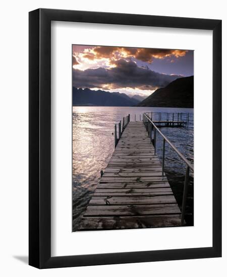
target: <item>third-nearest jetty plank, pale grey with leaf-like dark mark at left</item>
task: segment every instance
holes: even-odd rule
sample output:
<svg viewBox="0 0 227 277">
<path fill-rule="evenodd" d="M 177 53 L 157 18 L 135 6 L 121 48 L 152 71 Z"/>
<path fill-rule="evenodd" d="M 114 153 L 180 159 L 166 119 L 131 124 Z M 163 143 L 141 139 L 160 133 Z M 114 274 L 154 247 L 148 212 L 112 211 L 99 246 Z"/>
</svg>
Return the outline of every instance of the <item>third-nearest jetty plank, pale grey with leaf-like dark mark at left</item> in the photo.
<svg viewBox="0 0 227 277">
<path fill-rule="evenodd" d="M 176 203 L 173 195 L 154 196 L 93 196 L 89 205 L 160 204 Z"/>
</svg>

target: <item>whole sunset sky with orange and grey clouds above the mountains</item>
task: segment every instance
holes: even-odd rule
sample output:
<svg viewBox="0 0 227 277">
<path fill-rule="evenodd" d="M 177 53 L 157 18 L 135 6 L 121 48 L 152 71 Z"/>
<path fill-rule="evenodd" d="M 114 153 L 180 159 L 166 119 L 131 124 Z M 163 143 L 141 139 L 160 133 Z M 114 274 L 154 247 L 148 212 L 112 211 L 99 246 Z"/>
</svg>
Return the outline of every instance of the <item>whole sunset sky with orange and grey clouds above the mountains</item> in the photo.
<svg viewBox="0 0 227 277">
<path fill-rule="evenodd" d="M 194 75 L 193 50 L 73 45 L 73 86 L 148 96 Z"/>
</svg>

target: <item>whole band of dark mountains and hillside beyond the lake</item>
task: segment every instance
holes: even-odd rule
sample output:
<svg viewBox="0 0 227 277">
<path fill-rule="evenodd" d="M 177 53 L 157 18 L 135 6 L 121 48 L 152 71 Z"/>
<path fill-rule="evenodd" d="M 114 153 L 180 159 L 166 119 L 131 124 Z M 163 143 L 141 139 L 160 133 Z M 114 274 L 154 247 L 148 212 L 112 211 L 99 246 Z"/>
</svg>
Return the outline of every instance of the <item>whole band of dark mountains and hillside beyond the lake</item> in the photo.
<svg viewBox="0 0 227 277">
<path fill-rule="evenodd" d="M 157 89 L 144 99 L 140 95 L 129 97 L 125 93 L 93 91 L 73 87 L 73 106 L 139 106 L 182 107 L 194 106 L 194 76 L 178 78 L 164 88 Z"/>
</svg>

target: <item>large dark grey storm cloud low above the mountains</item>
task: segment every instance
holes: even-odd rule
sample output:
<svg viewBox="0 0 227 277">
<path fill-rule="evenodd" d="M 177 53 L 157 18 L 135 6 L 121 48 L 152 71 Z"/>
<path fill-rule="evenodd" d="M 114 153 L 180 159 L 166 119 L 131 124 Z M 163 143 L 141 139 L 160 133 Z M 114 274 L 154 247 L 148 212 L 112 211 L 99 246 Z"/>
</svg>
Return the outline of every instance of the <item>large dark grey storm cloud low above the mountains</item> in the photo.
<svg viewBox="0 0 227 277">
<path fill-rule="evenodd" d="M 134 61 L 120 59 L 114 61 L 116 67 L 96 68 L 81 71 L 73 68 L 73 86 L 77 88 L 139 88 L 152 90 L 164 87 L 180 76 L 165 75 L 139 67 Z"/>
</svg>

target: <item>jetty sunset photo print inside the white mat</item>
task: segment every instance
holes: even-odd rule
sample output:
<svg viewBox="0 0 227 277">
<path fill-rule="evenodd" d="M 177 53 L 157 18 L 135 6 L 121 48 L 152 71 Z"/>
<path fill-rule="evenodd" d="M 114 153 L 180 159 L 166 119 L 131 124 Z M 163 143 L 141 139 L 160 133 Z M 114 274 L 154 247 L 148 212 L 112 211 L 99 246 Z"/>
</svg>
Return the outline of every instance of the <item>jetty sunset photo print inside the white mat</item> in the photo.
<svg viewBox="0 0 227 277">
<path fill-rule="evenodd" d="M 194 51 L 72 45 L 72 231 L 194 225 Z"/>
</svg>

